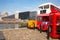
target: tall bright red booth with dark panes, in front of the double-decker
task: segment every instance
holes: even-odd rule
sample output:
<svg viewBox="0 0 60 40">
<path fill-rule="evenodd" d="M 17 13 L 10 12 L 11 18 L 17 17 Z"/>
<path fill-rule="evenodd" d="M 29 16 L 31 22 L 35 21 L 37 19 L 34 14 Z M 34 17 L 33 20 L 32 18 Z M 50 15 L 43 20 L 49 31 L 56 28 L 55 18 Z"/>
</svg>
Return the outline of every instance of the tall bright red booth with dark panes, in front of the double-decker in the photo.
<svg viewBox="0 0 60 40">
<path fill-rule="evenodd" d="M 60 12 L 50 13 L 48 27 L 48 39 L 59 38 L 60 39 Z"/>
</svg>

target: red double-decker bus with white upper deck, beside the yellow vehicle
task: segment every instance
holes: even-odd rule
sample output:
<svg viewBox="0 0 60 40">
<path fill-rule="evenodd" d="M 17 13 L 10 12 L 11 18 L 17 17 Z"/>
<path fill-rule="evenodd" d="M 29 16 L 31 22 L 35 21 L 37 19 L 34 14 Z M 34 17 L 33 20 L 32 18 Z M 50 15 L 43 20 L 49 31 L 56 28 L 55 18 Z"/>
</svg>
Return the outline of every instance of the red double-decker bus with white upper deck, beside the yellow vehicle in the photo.
<svg viewBox="0 0 60 40">
<path fill-rule="evenodd" d="M 40 30 L 40 32 L 42 30 L 48 30 L 49 27 L 49 17 L 50 17 L 50 13 L 56 13 L 59 12 L 59 7 L 57 7 L 56 5 L 52 4 L 52 3 L 46 3 L 46 4 L 42 4 L 40 5 L 40 14 L 37 15 L 37 29 Z"/>
</svg>

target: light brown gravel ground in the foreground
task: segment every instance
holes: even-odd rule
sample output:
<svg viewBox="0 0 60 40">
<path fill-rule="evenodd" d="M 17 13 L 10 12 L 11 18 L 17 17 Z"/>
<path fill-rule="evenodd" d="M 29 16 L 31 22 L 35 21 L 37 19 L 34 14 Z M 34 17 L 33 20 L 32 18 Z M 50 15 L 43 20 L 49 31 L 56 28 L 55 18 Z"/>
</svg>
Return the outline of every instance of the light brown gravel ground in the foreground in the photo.
<svg viewBox="0 0 60 40">
<path fill-rule="evenodd" d="M 47 40 L 47 34 L 45 32 L 40 33 L 37 29 L 4 29 L 2 33 L 6 40 Z"/>
</svg>

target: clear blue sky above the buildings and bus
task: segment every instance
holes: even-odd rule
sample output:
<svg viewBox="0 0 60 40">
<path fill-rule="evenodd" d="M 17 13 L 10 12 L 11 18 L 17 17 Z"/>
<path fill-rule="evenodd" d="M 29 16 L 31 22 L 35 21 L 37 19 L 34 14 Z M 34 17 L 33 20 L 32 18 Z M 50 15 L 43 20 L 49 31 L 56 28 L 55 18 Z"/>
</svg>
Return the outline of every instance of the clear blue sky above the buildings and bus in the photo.
<svg viewBox="0 0 60 40">
<path fill-rule="evenodd" d="M 43 3 L 51 2 L 60 6 L 60 0 L 0 0 L 0 12 L 28 11 L 38 8 Z"/>
</svg>

